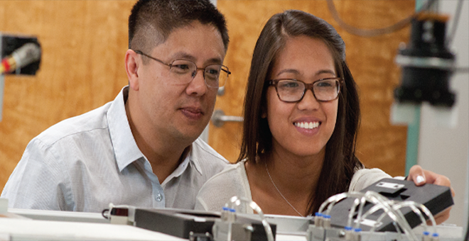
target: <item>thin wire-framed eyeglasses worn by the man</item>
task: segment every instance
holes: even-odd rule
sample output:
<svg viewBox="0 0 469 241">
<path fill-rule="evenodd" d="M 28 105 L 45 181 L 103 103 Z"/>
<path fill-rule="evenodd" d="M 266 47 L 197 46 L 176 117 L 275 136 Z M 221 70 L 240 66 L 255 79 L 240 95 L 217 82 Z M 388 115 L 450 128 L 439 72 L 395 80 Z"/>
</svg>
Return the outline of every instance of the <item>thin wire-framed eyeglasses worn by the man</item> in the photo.
<svg viewBox="0 0 469 241">
<path fill-rule="evenodd" d="M 169 66 L 169 71 L 176 75 L 176 80 L 180 84 L 188 84 L 191 82 L 195 78 L 198 69 L 202 69 L 205 84 L 212 88 L 220 88 L 225 86 L 228 76 L 231 74 L 230 70 L 225 65 L 207 65 L 205 68 L 199 68 L 195 65 L 195 62 L 190 60 L 173 60 L 171 64 L 166 64 L 162 60 L 146 55 L 140 50 L 134 51 L 139 55 L 144 55 L 145 57 L 149 57 L 151 60 L 155 60 L 156 62 Z"/>
</svg>

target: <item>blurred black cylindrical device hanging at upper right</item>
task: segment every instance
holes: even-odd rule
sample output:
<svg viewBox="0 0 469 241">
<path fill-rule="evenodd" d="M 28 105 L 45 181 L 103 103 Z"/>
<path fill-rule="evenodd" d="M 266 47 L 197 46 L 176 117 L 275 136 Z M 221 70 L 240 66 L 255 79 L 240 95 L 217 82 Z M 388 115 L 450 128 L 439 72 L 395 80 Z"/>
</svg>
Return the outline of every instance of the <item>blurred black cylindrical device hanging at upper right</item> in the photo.
<svg viewBox="0 0 469 241">
<path fill-rule="evenodd" d="M 398 102 L 453 106 L 455 94 L 449 90 L 449 79 L 455 55 L 446 47 L 446 21 L 446 16 L 435 13 L 421 13 L 412 19 L 409 44 L 396 57 L 402 67 L 401 86 L 394 90 Z"/>
</svg>

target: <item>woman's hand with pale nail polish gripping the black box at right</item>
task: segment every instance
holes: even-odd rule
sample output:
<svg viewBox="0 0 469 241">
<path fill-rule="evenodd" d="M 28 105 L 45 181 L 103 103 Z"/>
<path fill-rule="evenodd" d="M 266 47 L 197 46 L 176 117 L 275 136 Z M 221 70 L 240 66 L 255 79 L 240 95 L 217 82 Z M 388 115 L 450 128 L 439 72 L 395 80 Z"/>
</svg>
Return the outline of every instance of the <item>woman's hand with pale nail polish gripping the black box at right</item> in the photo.
<svg viewBox="0 0 469 241">
<path fill-rule="evenodd" d="M 451 188 L 451 181 L 450 179 L 448 179 L 448 177 L 436 174 L 434 172 L 430 172 L 428 170 L 424 170 L 419 165 L 411 167 L 411 169 L 409 170 L 409 176 L 407 176 L 407 180 L 414 181 L 416 186 L 423 186 L 424 184 L 448 186 L 451 189 L 451 195 L 454 196 L 454 190 L 453 188 Z M 440 224 L 448 220 L 450 210 L 451 207 L 446 208 L 444 211 L 434 216 L 436 224 Z M 431 223 L 428 221 L 427 224 L 431 225 Z"/>
</svg>

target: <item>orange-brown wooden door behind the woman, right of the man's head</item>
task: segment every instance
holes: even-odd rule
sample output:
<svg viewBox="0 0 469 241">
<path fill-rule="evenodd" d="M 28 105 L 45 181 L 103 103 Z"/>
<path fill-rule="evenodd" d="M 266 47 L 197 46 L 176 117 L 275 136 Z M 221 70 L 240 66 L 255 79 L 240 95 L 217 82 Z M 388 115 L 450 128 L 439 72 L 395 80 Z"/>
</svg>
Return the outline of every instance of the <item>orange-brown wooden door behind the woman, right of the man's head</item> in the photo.
<svg viewBox="0 0 469 241">
<path fill-rule="evenodd" d="M 383 28 L 406 18 L 414 11 L 415 1 L 341 0 L 335 1 L 343 21 L 357 28 Z M 233 74 L 226 94 L 217 99 L 216 109 L 226 115 L 241 116 L 249 64 L 257 37 L 266 21 L 286 9 L 313 13 L 331 23 L 342 35 L 347 47 L 347 61 L 360 88 L 362 123 L 357 155 L 367 167 L 379 167 L 392 175 L 404 175 L 406 127 L 389 123 L 392 91 L 399 84 L 399 67 L 394 57 L 399 43 L 409 38 L 409 27 L 396 33 L 362 38 L 338 27 L 325 0 L 313 1 L 230 1 L 218 0 L 225 13 L 231 43 L 225 65 Z M 225 123 L 222 128 L 210 125 L 209 144 L 235 161 L 241 138 L 240 123 Z"/>
</svg>

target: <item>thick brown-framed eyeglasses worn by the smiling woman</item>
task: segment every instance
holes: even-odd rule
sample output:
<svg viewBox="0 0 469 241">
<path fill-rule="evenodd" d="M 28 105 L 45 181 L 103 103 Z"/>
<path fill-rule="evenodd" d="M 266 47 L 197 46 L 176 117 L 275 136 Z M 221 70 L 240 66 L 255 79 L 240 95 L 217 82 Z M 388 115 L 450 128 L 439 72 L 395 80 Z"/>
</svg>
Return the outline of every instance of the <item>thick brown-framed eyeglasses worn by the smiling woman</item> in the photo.
<svg viewBox="0 0 469 241">
<path fill-rule="evenodd" d="M 333 101 L 338 98 L 342 81 L 342 78 L 327 78 L 306 84 L 298 79 L 272 79 L 269 84 L 275 86 L 281 101 L 291 103 L 301 101 L 308 89 L 318 101 Z"/>
</svg>

